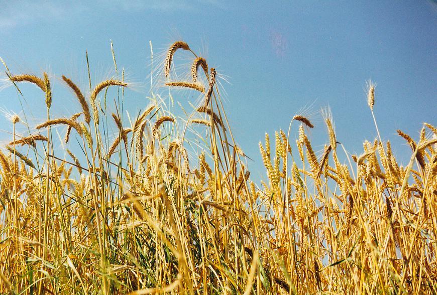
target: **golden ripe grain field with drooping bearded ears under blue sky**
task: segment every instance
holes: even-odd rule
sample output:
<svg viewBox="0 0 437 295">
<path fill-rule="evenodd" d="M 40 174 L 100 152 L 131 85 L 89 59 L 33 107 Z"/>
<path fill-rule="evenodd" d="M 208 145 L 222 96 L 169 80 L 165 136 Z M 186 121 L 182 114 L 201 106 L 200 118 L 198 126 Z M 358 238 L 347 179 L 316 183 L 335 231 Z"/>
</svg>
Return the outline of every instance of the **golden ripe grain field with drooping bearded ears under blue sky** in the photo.
<svg viewBox="0 0 437 295">
<path fill-rule="evenodd" d="M 170 80 L 179 49 L 192 52 L 176 42 L 162 70 L 172 91 L 202 95 L 187 118 L 152 95 L 129 123 L 99 106 L 108 87 L 129 83 L 114 78 L 92 88 L 89 81 L 86 97 L 66 76 L 82 109 L 53 118 L 47 74 L 7 69 L 18 90 L 22 82 L 42 90 L 47 120 L 19 137 L 15 118 L 8 152 L 0 151 L 1 292 L 437 292 L 434 126 L 425 123 L 418 140 L 398 131 L 412 150 L 403 167 L 379 131 L 361 155 L 340 156 L 344 147 L 329 113 L 317 157 L 306 134 L 314 126 L 296 115 L 287 133 L 275 132 L 274 146 L 268 134 L 260 142 L 268 182 L 256 185 L 228 124 L 215 69 L 192 52 L 191 81 Z M 121 110 L 125 92 L 117 93 Z M 369 83 L 372 115 L 377 104 Z M 67 126 L 66 141 L 76 139 L 73 152 L 54 148 L 60 142 L 50 128 L 59 124 Z M 45 129 L 47 136 L 39 133 Z M 110 129 L 117 130 L 113 141 Z M 296 142 L 289 140 L 293 132 Z M 192 138 L 203 142 L 197 155 Z"/>
</svg>

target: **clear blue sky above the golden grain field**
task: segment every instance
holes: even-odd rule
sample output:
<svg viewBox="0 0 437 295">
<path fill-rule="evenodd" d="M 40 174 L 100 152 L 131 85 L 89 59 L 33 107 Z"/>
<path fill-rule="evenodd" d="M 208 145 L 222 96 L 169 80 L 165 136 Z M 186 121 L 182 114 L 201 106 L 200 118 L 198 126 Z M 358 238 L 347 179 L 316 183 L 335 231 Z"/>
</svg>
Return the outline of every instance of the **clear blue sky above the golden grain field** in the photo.
<svg viewBox="0 0 437 295">
<path fill-rule="evenodd" d="M 381 136 L 393 142 L 403 163 L 408 147 L 396 129 L 417 139 L 422 122 L 437 124 L 432 1 L 33 0 L 2 1 L 1 8 L 0 56 L 13 73 L 48 70 L 83 83 L 88 50 L 91 76 L 104 79 L 114 67 L 113 40 L 118 66 L 148 89 L 149 41 L 156 56 L 174 41 L 186 41 L 230 82 L 222 81 L 225 107 L 238 143 L 256 161 L 255 175 L 265 175 L 258 148 L 265 132 L 287 129 L 305 106 L 316 125 L 310 134 L 316 151 L 328 141 L 318 111 L 331 107 L 338 140 L 360 154 L 361 143 L 376 136 L 363 90 L 368 79 L 377 83 Z M 71 94 L 56 97 L 65 87 L 59 79 L 53 83 L 54 112 L 80 110 Z M 25 108 L 44 114 L 43 98 L 25 89 Z M 144 108 L 146 95 L 126 93 L 125 108 Z M 0 106 L 22 110 L 12 87 L 0 91 Z M 10 138 L 11 124 L 5 123 L 0 118 L 0 139 Z"/>
</svg>

